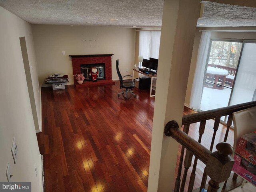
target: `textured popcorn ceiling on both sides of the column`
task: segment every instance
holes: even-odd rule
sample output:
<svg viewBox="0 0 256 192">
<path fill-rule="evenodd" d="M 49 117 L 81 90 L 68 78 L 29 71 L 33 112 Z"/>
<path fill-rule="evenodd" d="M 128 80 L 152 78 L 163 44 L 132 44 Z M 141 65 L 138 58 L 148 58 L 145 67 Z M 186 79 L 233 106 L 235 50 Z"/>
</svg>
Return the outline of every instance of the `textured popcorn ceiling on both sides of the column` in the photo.
<svg viewBox="0 0 256 192">
<path fill-rule="evenodd" d="M 163 0 L 0 0 L 0 6 L 31 24 L 123 27 L 160 26 L 163 4 Z M 198 24 L 256 26 L 256 8 L 205 2 Z"/>
</svg>

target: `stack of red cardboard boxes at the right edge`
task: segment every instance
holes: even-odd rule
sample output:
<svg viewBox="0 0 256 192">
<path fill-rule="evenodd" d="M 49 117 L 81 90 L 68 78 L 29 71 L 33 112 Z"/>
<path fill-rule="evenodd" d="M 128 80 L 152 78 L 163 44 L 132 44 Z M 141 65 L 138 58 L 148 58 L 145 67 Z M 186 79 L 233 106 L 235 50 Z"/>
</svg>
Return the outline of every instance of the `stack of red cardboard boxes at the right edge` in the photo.
<svg viewBox="0 0 256 192">
<path fill-rule="evenodd" d="M 234 161 L 232 170 L 256 185 L 256 132 L 238 139 Z"/>
</svg>

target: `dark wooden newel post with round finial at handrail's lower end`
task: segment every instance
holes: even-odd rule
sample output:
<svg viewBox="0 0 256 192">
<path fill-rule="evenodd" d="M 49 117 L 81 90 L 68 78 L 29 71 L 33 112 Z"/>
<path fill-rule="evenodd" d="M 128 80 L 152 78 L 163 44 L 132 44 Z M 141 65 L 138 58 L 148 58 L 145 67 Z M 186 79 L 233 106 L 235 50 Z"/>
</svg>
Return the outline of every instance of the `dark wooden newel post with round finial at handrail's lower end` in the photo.
<svg viewBox="0 0 256 192">
<path fill-rule="evenodd" d="M 216 145 L 218 151 L 213 152 L 206 164 L 206 173 L 210 176 L 207 192 L 217 192 L 219 184 L 226 181 L 231 173 L 234 159 L 233 148 L 230 144 L 222 142 Z"/>
</svg>

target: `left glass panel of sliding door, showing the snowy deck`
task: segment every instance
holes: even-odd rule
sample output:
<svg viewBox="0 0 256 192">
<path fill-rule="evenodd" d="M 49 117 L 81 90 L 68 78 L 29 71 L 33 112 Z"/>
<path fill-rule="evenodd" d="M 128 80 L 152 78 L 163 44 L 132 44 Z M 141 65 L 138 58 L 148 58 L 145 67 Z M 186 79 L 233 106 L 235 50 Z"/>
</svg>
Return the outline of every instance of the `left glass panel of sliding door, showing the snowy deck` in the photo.
<svg viewBox="0 0 256 192">
<path fill-rule="evenodd" d="M 211 41 L 204 75 L 201 111 L 229 105 L 242 44 L 242 41 Z"/>
</svg>

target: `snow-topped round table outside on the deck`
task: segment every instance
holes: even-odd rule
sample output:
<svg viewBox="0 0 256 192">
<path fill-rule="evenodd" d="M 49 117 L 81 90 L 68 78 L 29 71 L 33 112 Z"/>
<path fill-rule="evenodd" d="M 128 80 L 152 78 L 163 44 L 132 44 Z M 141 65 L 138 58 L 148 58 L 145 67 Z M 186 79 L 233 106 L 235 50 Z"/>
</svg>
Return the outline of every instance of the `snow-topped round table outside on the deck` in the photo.
<svg viewBox="0 0 256 192">
<path fill-rule="evenodd" d="M 213 86 L 210 87 L 208 83 L 205 83 L 204 86 L 213 88 L 213 89 L 223 89 L 223 86 L 218 86 L 224 85 L 226 82 L 226 76 L 229 74 L 229 72 L 225 69 L 220 69 L 220 68 L 215 68 L 215 67 L 207 67 L 206 71 L 206 80 L 208 82 L 213 82 Z M 218 83 L 219 82 L 219 83 Z"/>
</svg>

